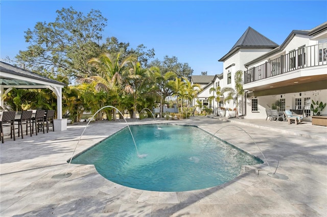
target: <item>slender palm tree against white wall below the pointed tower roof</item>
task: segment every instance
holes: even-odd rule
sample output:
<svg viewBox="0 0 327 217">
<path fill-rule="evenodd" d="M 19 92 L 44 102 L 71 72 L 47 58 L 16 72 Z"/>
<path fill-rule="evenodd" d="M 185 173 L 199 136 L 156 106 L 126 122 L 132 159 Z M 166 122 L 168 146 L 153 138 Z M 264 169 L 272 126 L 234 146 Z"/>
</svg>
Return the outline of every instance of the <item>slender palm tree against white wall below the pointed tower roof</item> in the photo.
<svg viewBox="0 0 327 217">
<path fill-rule="evenodd" d="M 224 94 L 227 92 L 227 96 L 225 97 L 224 101 L 229 102 L 231 99 L 236 99 L 236 117 L 239 116 L 239 98 L 243 96 L 243 71 L 238 70 L 235 72 L 235 89 L 231 87 L 224 87 L 221 89 L 221 93 Z"/>
</svg>

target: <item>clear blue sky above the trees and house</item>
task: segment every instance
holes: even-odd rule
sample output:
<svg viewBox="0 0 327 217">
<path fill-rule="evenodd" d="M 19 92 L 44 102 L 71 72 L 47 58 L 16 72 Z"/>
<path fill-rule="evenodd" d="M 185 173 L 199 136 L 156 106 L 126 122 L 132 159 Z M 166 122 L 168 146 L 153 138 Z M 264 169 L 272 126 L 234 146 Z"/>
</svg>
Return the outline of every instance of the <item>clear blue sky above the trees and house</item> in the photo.
<svg viewBox="0 0 327 217">
<path fill-rule="evenodd" d="M 26 50 L 25 31 L 36 22 L 53 22 L 56 10 L 73 7 L 86 15 L 100 10 L 108 19 L 103 37 L 135 48 L 154 48 L 155 58 L 176 56 L 194 69 L 220 74 L 218 62 L 248 26 L 277 44 L 292 30 L 310 30 L 327 21 L 327 1 L 4 1 L 0 58 Z"/>
</svg>

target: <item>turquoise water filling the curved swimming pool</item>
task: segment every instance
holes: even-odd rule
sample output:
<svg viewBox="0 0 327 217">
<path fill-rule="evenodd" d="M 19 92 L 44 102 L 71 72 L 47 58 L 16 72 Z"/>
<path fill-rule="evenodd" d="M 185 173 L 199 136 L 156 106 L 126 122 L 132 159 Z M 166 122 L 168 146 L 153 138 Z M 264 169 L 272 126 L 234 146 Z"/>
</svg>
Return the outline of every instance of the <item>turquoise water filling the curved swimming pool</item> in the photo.
<svg viewBox="0 0 327 217">
<path fill-rule="evenodd" d="M 158 192 L 181 192 L 226 183 L 242 165 L 262 164 L 212 134 L 181 125 L 130 126 L 73 158 L 72 164 L 93 164 L 115 183 Z"/>
</svg>

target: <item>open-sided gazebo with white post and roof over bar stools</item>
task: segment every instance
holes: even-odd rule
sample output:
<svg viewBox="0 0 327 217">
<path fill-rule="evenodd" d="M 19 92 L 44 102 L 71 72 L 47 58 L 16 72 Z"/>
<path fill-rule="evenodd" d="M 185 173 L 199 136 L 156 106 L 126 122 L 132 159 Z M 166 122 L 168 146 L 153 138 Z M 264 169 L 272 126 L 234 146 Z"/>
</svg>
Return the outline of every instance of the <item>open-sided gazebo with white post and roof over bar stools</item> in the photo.
<svg viewBox="0 0 327 217">
<path fill-rule="evenodd" d="M 66 84 L 41 76 L 34 72 L 0 61 L 0 106 L 4 106 L 3 95 L 16 89 L 52 90 L 57 96 L 57 119 L 54 120 L 54 130 L 67 129 L 67 119 L 62 119 L 62 88 Z"/>
</svg>

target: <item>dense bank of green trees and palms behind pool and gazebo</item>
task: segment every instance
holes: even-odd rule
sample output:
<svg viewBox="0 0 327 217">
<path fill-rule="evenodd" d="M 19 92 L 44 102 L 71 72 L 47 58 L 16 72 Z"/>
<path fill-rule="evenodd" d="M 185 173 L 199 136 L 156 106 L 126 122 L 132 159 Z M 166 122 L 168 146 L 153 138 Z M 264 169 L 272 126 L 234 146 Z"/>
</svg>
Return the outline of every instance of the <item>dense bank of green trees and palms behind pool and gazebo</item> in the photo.
<svg viewBox="0 0 327 217">
<path fill-rule="evenodd" d="M 108 103 L 135 117 L 137 111 L 159 101 L 162 107 L 173 94 L 180 98 L 181 110 L 195 97 L 189 82 L 193 69 L 188 63 L 180 63 L 175 56 L 153 60 L 154 49 L 144 44 L 132 48 L 115 37 L 103 39 L 107 19 L 99 10 L 84 15 L 71 7 L 56 13 L 54 22 L 37 22 L 25 32 L 29 46 L 16 59 L 28 70 L 71 83 L 63 88 L 62 98 L 65 115 L 73 121 Z M 174 87 L 178 82 L 180 89 Z M 51 90 L 14 90 L 7 95 L 6 106 L 18 111 L 55 110 L 55 98 Z M 105 113 L 108 119 L 116 117 L 115 110 Z"/>
</svg>

